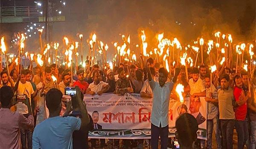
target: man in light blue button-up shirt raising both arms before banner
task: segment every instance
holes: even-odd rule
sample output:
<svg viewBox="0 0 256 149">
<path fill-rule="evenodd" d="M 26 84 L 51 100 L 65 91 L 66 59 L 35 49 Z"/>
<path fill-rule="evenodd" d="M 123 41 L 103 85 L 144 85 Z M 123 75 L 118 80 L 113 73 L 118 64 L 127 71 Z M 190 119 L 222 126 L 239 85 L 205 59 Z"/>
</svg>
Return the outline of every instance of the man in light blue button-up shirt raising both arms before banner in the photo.
<svg viewBox="0 0 256 149">
<path fill-rule="evenodd" d="M 159 83 L 154 81 L 148 69 L 149 85 L 153 91 L 153 106 L 151 112 L 151 148 L 158 149 L 158 138 L 160 136 L 161 149 L 167 149 L 169 132 L 169 100 L 173 84 L 177 80 L 180 69 L 175 69 L 175 76 L 171 82 L 166 82 L 168 72 L 165 68 L 159 69 Z"/>
</svg>

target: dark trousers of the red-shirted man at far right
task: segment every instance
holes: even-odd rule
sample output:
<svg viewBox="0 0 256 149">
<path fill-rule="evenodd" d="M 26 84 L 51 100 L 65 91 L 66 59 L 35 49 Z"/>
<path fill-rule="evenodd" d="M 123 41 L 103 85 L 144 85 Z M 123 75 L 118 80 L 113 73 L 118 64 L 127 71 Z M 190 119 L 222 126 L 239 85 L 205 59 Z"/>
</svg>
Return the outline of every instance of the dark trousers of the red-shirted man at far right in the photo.
<svg viewBox="0 0 256 149">
<path fill-rule="evenodd" d="M 249 138 L 248 123 L 245 120 L 236 120 L 235 126 L 238 137 L 237 148 L 243 149 L 246 140 Z"/>
</svg>

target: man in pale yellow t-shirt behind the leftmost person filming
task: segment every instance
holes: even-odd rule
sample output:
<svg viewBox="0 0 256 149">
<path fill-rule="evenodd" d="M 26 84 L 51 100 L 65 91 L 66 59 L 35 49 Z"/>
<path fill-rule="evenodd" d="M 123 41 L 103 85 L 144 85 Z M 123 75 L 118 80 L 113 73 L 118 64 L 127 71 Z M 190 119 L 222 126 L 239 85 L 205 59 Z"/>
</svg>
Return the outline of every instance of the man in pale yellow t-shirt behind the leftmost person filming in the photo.
<svg viewBox="0 0 256 149">
<path fill-rule="evenodd" d="M 38 89 L 36 89 L 34 92 L 32 84 L 26 81 L 26 75 L 28 73 L 29 72 L 27 70 L 22 70 L 20 81 L 18 81 L 17 84 L 15 84 L 15 86 L 17 86 L 17 95 L 26 95 L 29 98 L 29 103 L 31 106 L 31 97 L 34 98 L 37 95 Z M 18 102 L 16 106 L 17 112 L 20 112 L 20 114 L 23 114 L 26 118 L 28 118 L 29 110 L 26 104 Z M 32 149 L 32 131 L 20 129 L 20 136 L 22 148 L 26 149 L 26 146 L 28 146 L 28 149 Z"/>
</svg>

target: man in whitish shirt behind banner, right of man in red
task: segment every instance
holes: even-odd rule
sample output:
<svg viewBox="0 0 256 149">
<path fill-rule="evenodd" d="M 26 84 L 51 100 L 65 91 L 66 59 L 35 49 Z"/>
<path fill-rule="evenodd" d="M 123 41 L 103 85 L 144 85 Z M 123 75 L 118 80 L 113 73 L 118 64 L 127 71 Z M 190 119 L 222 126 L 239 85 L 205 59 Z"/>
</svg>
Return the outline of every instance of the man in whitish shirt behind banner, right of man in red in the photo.
<svg viewBox="0 0 256 149">
<path fill-rule="evenodd" d="M 103 81 L 99 80 L 100 75 L 99 72 L 95 71 L 93 72 L 93 83 L 90 83 L 90 85 L 87 88 L 86 94 L 91 95 L 102 95 L 103 93 L 107 92 L 108 89 L 110 89 L 110 86 L 108 83 L 105 83 Z"/>
</svg>

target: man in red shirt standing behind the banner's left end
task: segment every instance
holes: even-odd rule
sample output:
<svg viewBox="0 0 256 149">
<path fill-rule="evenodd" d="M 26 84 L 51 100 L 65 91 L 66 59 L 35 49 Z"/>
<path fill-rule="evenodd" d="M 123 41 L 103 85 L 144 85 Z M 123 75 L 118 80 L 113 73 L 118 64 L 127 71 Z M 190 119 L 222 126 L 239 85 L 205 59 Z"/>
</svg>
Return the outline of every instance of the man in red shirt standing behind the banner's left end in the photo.
<svg viewBox="0 0 256 149">
<path fill-rule="evenodd" d="M 84 69 L 79 69 L 76 74 L 78 76 L 78 80 L 73 83 L 73 86 L 79 86 L 81 92 L 85 94 L 89 84 L 84 81 Z"/>
</svg>

